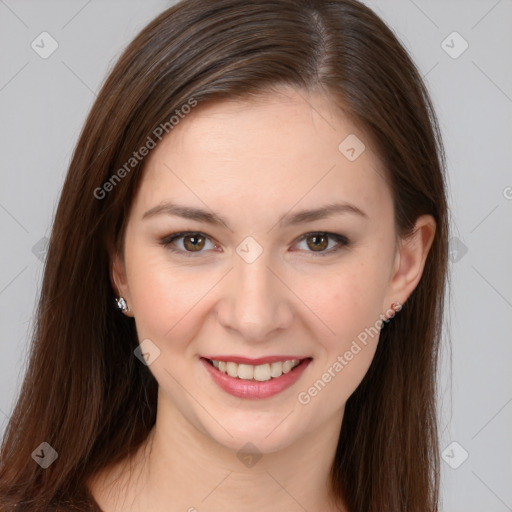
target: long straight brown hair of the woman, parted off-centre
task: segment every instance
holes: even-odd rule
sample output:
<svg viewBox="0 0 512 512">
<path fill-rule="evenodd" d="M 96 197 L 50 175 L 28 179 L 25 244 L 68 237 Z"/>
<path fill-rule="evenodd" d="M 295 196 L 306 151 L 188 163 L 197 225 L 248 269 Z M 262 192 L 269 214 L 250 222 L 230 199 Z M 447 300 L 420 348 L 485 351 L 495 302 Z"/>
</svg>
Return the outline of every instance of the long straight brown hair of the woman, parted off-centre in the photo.
<svg viewBox="0 0 512 512">
<path fill-rule="evenodd" d="M 419 215 L 437 223 L 421 281 L 383 328 L 346 404 L 332 486 L 351 512 L 438 510 L 445 156 L 421 75 L 356 0 L 186 0 L 121 55 L 56 212 L 29 364 L 2 444 L 0 510 L 88 509 L 86 480 L 133 454 L 155 423 L 157 383 L 134 357 L 134 322 L 113 307 L 109 274 L 144 167 L 134 151 L 158 142 L 161 126 L 171 133 L 169 120 L 192 101 L 246 99 L 280 85 L 321 88 L 357 122 L 385 166 L 400 236 Z M 58 453 L 47 469 L 31 457 L 41 442 Z"/>
</svg>

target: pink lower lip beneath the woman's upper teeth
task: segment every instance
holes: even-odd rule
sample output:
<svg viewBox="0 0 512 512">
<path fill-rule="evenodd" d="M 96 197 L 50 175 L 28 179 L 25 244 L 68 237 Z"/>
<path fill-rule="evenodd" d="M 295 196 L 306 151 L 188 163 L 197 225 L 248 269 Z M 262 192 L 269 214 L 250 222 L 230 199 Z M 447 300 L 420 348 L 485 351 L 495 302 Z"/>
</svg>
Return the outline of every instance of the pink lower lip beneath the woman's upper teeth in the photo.
<svg viewBox="0 0 512 512">
<path fill-rule="evenodd" d="M 288 373 L 283 373 L 281 377 L 259 382 L 256 380 L 243 380 L 230 377 L 227 373 L 222 373 L 217 370 L 208 360 L 201 358 L 201 363 L 203 363 L 206 371 L 226 393 L 236 396 L 237 398 L 250 399 L 269 398 L 293 386 L 293 384 L 299 380 L 302 372 L 310 362 L 311 359 L 303 359 L 293 370 Z"/>
</svg>

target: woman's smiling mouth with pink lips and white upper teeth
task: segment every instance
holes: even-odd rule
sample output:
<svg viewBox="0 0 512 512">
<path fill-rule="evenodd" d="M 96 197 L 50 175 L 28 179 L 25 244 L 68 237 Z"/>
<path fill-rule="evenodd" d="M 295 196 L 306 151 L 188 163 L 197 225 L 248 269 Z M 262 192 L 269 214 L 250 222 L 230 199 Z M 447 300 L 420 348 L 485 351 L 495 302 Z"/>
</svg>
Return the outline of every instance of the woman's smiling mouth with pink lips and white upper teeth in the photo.
<svg viewBox="0 0 512 512">
<path fill-rule="evenodd" d="M 249 361 L 253 364 L 249 364 Z M 311 361 L 311 357 L 297 356 L 262 359 L 201 357 L 204 367 L 221 389 L 238 398 L 253 399 L 268 398 L 289 388 L 297 382 Z"/>
</svg>

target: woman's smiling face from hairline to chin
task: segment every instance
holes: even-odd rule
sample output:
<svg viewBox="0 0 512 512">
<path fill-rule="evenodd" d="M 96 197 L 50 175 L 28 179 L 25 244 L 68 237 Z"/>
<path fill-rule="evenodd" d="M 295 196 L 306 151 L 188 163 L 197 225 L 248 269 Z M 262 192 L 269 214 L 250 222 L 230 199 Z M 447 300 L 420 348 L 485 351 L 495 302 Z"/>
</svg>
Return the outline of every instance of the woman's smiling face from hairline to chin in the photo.
<svg viewBox="0 0 512 512">
<path fill-rule="evenodd" d="M 146 161 L 113 274 L 150 340 L 159 411 L 262 452 L 339 426 L 382 315 L 421 273 L 421 257 L 400 270 L 383 176 L 321 95 L 199 105 L 175 126 Z"/>
</svg>

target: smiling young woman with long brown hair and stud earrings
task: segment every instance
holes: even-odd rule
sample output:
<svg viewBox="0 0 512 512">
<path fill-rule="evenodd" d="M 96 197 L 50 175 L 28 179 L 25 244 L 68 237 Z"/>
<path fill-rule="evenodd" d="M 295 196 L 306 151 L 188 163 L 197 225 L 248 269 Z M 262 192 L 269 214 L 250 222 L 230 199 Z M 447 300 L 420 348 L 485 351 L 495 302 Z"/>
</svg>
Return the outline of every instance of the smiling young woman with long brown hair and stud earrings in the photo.
<svg viewBox="0 0 512 512">
<path fill-rule="evenodd" d="M 444 152 L 355 0 L 187 0 L 53 226 L 1 510 L 438 510 Z"/>
</svg>

